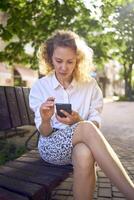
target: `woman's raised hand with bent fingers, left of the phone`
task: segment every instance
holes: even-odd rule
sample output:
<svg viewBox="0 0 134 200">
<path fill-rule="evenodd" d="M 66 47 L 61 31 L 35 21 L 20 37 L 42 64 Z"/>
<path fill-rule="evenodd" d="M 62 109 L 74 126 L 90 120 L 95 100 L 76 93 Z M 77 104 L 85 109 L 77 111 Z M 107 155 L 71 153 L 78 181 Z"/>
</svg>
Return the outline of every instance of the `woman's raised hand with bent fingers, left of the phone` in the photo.
<svg viewBox="0 0 134 200">
<path fill-rule="evenodd" d="M 54 114 L 54 97 L 49 97 L 40 107 L 40 114 L 43 122 L 50 121 Z"/>
</svg>

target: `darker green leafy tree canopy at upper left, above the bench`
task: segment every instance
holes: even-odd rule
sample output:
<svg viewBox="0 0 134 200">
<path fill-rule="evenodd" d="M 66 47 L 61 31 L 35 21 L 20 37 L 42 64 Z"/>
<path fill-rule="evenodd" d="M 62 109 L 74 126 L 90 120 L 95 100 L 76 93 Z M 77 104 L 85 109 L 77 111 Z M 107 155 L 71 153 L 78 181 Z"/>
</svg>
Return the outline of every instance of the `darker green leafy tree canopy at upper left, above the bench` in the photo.
<svg viewBox="0 0 134 200">
<path fill-rule="evenodd" d="M 77 15 L 86 9 L 79 0 L 1 0 L 1 11 L 7 13 L 7 25 L 0 26 L 0 37 L 8 42 L 0 60 L 10 64 L 29 63 L 37 67 L 36 52 L 40 43 L 55 29 L 72 28 Z M 25 52 L 31 44 L 34 54 Z"/>
</svg>

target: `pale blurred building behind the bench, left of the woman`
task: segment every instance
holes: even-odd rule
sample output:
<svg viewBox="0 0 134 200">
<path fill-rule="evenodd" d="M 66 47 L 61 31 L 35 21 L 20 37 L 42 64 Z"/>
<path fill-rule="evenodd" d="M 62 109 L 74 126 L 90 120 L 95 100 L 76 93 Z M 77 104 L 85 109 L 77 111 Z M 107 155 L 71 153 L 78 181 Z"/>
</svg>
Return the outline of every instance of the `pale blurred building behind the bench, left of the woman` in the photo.
<svg viewBox="0 0 134 200">
<path fill-rule="evenodd" d="M 0 24 L 4 27 L 7 24 L 8 14 L 0 11 Z M 0 51 L 4 51 L 8 42 L 0 38 Z M 38 71 L 32 70 L 28 66 L 0 63 L 0 85 L 2 86 L 26 86 L 31 87 L 38 78 Z"/>
</svg>

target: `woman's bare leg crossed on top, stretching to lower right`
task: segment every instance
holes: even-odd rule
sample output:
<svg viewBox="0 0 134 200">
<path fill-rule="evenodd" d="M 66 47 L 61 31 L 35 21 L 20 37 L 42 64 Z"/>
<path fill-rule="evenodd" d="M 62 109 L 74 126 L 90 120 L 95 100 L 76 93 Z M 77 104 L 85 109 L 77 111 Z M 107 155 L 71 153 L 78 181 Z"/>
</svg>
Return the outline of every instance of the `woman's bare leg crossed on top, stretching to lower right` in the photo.
<svg viewBox="0 0 134 200">
<path fill-rule="evenodd" d="M 84 143 L 91 150 L 100 168 L 127 199 L 134 199 L 134 184 L 117 155 L 99 129 L 90 122 L 80 122 L 73 135 L 73 145 Z"/>
</svg>

